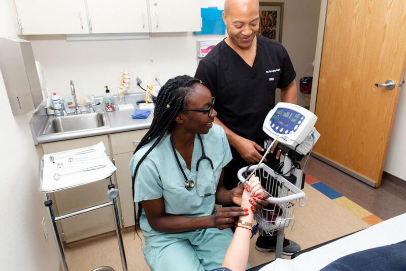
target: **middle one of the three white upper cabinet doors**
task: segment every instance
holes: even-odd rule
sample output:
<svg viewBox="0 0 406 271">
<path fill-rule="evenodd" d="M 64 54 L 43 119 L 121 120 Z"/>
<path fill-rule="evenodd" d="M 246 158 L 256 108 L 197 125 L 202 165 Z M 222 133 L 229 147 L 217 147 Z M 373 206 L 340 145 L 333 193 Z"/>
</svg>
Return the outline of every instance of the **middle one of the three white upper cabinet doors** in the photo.
<svg viewBox="0 0 406 271">
<path fill-rule="evenodd" d="M 148 7 L 145 0 L 87 0 L 90 32 L 148 33 Z"/>
</svg>

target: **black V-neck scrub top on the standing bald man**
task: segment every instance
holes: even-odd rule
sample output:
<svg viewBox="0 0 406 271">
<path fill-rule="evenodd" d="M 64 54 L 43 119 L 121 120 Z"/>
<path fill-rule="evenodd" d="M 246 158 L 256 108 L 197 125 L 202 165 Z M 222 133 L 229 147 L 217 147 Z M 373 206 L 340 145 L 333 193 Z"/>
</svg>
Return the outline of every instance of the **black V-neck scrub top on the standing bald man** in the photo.
<svg viewBox="0 0 406 271">
<path fill-rule="evenodd" d="M 201 59 L 194 77 L 216 98 L 214 109 L 225 126 L 260 142 L 269 138 L 262 125 L 275 106 L 276 88 L 288 86 L 296 72 L 279 42 L 258 35 L 253 67 L 223 40 Z"/>
</svg>

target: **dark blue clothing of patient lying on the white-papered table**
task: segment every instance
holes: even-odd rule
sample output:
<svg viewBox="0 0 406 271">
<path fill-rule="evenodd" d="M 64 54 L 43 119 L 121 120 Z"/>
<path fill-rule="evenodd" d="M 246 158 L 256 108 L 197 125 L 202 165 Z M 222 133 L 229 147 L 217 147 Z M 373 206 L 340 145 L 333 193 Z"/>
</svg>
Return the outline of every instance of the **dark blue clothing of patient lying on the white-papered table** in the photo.
<svg viewBox="0 0 406 271">
<path fill-rule="evenodd" d="M 346 255 L 321 270 L 406 270 L 406 240 Z"/>
</svg>

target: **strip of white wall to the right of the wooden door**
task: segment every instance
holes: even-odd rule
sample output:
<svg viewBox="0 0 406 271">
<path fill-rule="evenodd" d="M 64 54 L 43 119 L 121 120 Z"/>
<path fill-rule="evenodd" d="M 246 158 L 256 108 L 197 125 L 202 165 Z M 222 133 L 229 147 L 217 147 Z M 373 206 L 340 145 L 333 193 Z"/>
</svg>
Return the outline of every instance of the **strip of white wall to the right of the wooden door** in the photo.
<svg viewBox="0 0 406 271">
<path fill-rule="evenodd" d="M 405 74 L 406 79 L 406 74 Z M 389 142 L 388 156 L 384 170 L 406 181 L 406 167 L 404 154 L 406 154 L 406 84 L 400 91 L 399 103 L 396 110 L 395 123 Z"/>
</svg>

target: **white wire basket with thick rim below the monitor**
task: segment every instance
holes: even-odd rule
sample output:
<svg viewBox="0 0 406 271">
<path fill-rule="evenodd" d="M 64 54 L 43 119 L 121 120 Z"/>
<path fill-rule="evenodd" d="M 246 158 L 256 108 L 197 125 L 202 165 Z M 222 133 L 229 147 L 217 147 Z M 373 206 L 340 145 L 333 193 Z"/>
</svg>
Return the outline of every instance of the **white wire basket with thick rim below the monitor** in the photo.
<svg viewBox="0 0 406 271">
<path fill-rule="evenodd" d="M 256 165 L 241 168 L 238 171 L 238 178 L 245 182 Z M 306 194 L 290 183 L 281 175 L 275 174 L 274 170 L 261 164 L 255 171 L 255 176 L 259 177 L 262 187 L 269 194 L 266 199 L 268 206 L 264 207 L 255 214 L 254 218 L 259 224 L 259 233 L 262 235 L 275 235 L 279 229 L 292 229 L 294 225 L 294 210 L 297 204 L 300 205 L 300 199 L 306 199 Z"/>
</svg>

